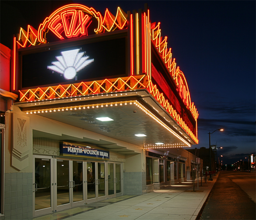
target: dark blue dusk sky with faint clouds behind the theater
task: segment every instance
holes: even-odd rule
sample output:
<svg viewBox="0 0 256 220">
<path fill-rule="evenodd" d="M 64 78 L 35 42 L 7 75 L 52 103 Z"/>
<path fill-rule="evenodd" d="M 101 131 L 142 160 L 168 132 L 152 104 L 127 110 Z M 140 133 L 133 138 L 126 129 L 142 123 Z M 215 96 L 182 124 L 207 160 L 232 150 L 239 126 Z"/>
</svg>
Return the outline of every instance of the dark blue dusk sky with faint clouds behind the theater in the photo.
<svg viewBox="0 0 256 220">
<path fill-rule="evenodd" d="M 5 1 L 1 0 L 0 6 L 2 2 Z M 38 7 L 41 1 L 25 2 L 37 2 Z M 15 25 L 10 21 L 13 25 L 6 30 L 2 9 L 1 43 L 9 46 L 12 41 L 12 36 L 11 41 L 3 39 L 3 32 L 15 34 L 27 24 L 38 28 L 39 22 L 49 15 L 44 10 L 46 2 L 41 9 L 15 20 Z M 60 2 L 65 5 L 67 1 Z M 218 155 L 223 155 L 224 163 L 231 164 L 255 154 L 255 1 L 73 2 L 102 13 L 108 8 L 114 15 L 118 6 L 127 12 L 144 9 L 147 3 L 151 22 L 161 23 L 162 36 L 168 37 L 172 57 L 185 74 L 191 101 L 198 109 L 199 144 L 192 148 L 209 148 L 208 133 L 223 128 L 223 132 L 211 134 L 211 144 L 223 147 Z"/>
</svg>

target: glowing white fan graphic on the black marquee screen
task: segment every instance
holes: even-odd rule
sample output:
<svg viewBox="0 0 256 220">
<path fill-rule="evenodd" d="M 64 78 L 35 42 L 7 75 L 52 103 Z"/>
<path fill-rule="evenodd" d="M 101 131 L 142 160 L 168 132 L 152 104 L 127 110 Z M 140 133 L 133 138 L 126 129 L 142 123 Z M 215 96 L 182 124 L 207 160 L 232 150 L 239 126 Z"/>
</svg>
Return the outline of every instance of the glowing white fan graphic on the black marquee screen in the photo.
<svg viewBox="0 0 256 220">
<path fill-rule="evenodd" d="M 61 52 L 61 56 L 56 57 L 58 61 L 52 62 L 53 65 L 47 68 L 60 73 L 65 79 L 76 80 L 76 73 L 94 61 L 94 59 L 88 60 L 89 56 L 83 57 L 86 52 L 79 52 L 80 49 Z"/>
</svg>

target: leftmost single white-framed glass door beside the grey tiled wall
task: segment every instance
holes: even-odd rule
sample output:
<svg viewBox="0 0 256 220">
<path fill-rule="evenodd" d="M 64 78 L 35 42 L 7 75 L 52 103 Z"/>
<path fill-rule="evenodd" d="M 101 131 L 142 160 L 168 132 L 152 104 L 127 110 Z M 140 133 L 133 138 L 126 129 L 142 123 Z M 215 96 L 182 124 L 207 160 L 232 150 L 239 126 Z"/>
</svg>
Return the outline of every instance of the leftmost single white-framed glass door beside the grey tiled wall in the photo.
<svg viewBox="0 0 256 220">
<path fill-rule="evenodd" d="M 53 211 L 53 173 L 51 157 L 34 156 L 33 215 Z"/>
</svg>

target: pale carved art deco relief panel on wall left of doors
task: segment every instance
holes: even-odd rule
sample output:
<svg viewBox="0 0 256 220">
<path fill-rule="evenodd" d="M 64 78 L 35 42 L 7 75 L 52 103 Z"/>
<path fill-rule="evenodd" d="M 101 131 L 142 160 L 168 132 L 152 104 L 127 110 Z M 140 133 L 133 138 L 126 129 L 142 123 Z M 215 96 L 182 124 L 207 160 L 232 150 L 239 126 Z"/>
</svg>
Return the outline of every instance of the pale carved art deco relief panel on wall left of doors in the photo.
<svg viewBox="0 0 256 220">
<path fill-rule="evenodd" d="M 12 166 L 23 170 L 28 166 L 29 150 L 29 117 L 13 114 Z"/>
</svg>

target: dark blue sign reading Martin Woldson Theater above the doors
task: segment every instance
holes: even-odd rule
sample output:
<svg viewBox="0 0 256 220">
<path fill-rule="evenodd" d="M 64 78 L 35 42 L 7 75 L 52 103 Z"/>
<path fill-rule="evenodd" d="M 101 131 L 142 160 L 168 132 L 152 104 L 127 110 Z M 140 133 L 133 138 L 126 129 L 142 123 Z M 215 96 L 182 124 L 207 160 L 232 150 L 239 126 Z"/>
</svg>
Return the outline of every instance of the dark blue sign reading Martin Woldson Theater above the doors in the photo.
<svg viewBox="0 0 256 220">
<path fill-rule="evenodd" d="M 65 142 L 60 143 L 60 155 L 109 160 L 109 151 L 107 150 Z"/>
</svg>

